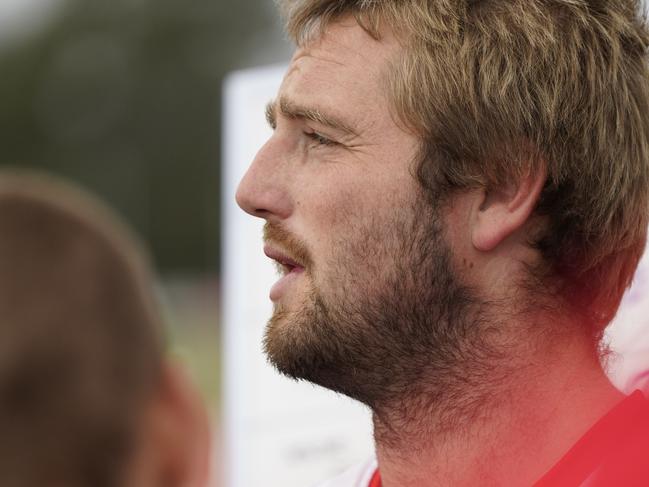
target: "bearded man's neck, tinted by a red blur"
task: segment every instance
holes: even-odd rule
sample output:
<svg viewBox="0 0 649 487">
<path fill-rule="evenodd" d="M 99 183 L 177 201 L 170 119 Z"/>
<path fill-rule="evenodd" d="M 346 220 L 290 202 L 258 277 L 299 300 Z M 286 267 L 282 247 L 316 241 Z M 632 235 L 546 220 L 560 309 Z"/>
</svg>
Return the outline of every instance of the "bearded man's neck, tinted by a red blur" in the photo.
<svg viewBox="0 0 649 487">
<path fill-rule="evenodd" d="M 622 397 L 588 340 L 566 335 L 374 408 L 383 486 L 534 484 Z"/>
</svg>

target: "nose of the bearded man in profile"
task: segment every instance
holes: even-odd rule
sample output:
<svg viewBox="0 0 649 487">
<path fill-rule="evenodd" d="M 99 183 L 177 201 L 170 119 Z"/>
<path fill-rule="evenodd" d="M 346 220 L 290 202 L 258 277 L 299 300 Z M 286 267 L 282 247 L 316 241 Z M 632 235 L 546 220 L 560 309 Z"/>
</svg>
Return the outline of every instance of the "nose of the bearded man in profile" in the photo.
<svg viewBox="0 0 649 487">
<path fill-rule="evenodd" d="M 237 188 L 242 210 L 266 220 L 288 218 L 292 204 L 286 156 L 272 138 L 259 150 Z"/>
</svg>

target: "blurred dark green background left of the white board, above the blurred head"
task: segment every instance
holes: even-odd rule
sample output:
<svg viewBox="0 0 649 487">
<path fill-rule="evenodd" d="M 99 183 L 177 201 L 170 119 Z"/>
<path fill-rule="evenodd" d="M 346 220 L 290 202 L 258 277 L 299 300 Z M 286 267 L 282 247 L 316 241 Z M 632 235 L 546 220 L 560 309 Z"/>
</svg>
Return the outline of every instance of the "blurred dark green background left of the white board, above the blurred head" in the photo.
<svg viewBox="0 0 649 487">
<path fill-rule="evenodd" d="M 0 165 L 80 183 L 144 238 L 213 411 L 221 82 L 289 54 L 272 0 L 0 0 Z"/>
</svg>

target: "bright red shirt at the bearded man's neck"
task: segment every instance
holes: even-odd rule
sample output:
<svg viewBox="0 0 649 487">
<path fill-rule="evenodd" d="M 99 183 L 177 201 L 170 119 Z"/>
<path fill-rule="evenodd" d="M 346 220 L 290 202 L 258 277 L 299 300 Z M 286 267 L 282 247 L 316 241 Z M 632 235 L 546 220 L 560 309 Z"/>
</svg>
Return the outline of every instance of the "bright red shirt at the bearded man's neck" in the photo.
<svg viewBox="0 0 649 487">
<path fill-rule="evenodd" d="M 378 470 L 368 487 L 381 487 Z M 533 487 L 649 487 L 649 401 L 635 391 Z"/>
</svg>

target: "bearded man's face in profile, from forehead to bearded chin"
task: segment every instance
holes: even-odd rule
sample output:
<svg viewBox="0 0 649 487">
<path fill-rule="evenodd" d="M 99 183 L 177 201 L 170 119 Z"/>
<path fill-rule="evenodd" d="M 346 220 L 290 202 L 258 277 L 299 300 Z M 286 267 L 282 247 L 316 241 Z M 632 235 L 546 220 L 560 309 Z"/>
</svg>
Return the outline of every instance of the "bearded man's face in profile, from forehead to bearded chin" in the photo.
<svg viewBox="0 0 649 487">
<path fill-rule="evenodd" d="M 440 212 L 412 176 L 418 140 L 390 112 L 398 50 L 353 20 L 298 49 L 269 106 L 274 134 L 237 193 L 266 220 L 265 252 L 283 274 L 270 293 L 270 360 L 370 405 L 396 394 L 397 376 L 422 374 L 421 360 L 406 362 L 431 359 L 435 328 L 446 333 L 464 296 Z"/>
</svg>

